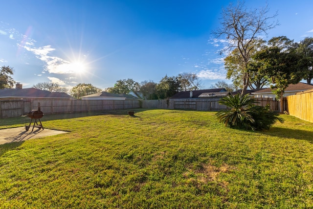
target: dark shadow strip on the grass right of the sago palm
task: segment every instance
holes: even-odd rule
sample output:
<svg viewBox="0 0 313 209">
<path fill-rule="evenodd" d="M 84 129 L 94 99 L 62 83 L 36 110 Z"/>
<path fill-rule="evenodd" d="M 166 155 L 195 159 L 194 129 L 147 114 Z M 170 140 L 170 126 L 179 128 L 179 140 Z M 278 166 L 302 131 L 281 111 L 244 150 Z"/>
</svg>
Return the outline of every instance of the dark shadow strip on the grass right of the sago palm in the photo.
<svg viewBox="0 0 313 209">
<path fill-rule="evenodd" d="M 313 143 L 313 131 L 271 127 L 269 131 L 264 131 L 262 132 L 262 134 L 272 137 L 284 137 L 288 139 L 307 140 Z"/>
</svg>

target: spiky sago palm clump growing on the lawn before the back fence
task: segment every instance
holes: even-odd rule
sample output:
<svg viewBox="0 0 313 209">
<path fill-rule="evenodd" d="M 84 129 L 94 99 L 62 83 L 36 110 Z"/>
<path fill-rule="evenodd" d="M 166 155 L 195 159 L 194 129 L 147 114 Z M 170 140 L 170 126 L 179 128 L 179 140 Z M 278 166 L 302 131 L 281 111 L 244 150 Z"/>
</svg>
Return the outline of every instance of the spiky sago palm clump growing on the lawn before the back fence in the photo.
<svg viewBox="0 0 313 209">
<path fill-rule="evenodd" d="M 278 114 L 270 111 L 268 106 L 256 106 L 253 104 L 255 102 L 255 98 L 248 94 L 230 94 L 220 101 L 229 109 L 219 111 L 216 116 L 227 127 L 247 130 L 268 130 L 276 120 L 282 122 Z"/>
</svg>

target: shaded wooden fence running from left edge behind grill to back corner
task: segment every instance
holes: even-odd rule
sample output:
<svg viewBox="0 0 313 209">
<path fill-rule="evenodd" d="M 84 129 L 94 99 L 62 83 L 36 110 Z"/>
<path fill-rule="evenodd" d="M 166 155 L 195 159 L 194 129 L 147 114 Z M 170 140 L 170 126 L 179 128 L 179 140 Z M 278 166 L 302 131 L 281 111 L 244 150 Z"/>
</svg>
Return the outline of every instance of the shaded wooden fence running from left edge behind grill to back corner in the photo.
<svg viewBox="0 0 313 209">
<path fill-rule="evenodd" d="M 80 100 L 80 99 L 12 99 L 0 100 L 0 118 L 21 116 L 37 110 L 38 102 L 44 114 L 79 113 L 139 108 L 139 100 Z"/>
</svg>

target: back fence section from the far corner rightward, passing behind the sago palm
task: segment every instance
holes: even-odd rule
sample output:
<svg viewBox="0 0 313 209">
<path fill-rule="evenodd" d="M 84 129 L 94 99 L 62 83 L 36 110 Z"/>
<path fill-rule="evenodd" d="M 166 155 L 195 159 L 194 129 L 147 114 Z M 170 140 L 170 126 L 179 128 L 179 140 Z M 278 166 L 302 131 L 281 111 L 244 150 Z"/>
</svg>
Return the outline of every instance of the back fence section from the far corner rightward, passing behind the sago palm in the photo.
<svg viewBox="0 0 313 209">
<path fill-rule="evenodd" d="M 226 106 L 219 103 L 221 97 L 205 99 L 163 99 L 163 100 L 143 100 L 142 108 L 145 109 L 182 109 L 197 111 L 219 111 L 227 109 Z M 272 98 L 256 98 L 256 105 L 265 107 L 269 105 L 270 110 L 279 111 L 279 102 Z M 285 109 L 288 109 L 286 100 L 284 100 Z"/>
</svg>

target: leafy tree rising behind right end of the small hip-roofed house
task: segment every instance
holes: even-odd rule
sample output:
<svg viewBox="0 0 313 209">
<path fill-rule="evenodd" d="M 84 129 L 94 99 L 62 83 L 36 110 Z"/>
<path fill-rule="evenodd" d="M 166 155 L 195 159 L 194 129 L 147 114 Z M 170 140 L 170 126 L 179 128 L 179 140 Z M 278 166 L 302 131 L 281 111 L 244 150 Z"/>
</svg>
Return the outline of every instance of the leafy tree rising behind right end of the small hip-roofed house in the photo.
<svg viewBox="0 0 313 209">
<path fill-rule="evenodd" d="M 106 89 L 109 93 L 130 93 L 130 91 L 137 91 L 139 90 L 139 83 L 135 82 L 133 79 L 123 79 L 117 80 L 114 84 L 114 87 L 110 87 Z"/>
</svg>

